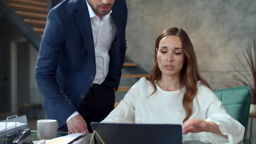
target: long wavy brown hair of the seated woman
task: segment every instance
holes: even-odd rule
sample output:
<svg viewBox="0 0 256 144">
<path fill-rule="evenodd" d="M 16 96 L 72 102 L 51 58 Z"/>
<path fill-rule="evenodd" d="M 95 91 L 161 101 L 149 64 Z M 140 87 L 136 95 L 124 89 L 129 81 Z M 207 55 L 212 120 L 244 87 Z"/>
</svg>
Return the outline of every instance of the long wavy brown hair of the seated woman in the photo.
<svg viewBox="0 0 256 144">
<path fill-rule="evenodd" d="M 192 106 L 193 106 L 192 101 L 196 97 L 197 81 L 201 81 L 201 83 L 207 86 L 208 88 L 211 88 L 211 87 L 208 85 L 208 83 L 205 80 L 202 79 L 202 77 L 199 74 L 193 45 L 188 37 L 188 34 L 182 28 L 171 27 L 162 31 L 162 33 L 158 36 L 158 38 L 155 41 L 155 48 L 157 50 L 159 49 L 160 40 L 166 37 L 167 35 L 177 35 L 182 39 L 182 49 L 183 49 L 185 58 L 184 58 L 183 68 L 181 70 L 180 85 L 183 84 L 185 86 L 185 94 L 182 102 L 183 107 L 187 113 L 186 117 L 183 120 L 183 122 L 185 122 L 189 119 L 189 117 L 192 114 Z M 158 51 L 157 50 L 155 50 L 155 58 L 154 58 L 155 64 L 151 71 L 151 75 L 148 78 L 148 80 L 152 83 L 154 87 L 154 92 L 152 94 L 156 92 L 155 82 L 159 81 L 162 75 L 161 70 L 158 67 L 158 59 L 157 59 Z"/>
</svg>

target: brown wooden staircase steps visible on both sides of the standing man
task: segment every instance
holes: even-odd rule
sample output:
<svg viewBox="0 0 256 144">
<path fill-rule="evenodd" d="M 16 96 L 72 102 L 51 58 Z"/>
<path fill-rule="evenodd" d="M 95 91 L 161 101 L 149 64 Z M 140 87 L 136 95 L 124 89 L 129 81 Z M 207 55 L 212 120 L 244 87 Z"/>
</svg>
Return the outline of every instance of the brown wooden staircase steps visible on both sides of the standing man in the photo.
<svg viewBox="0 0 256 144">
<path fill-rule="evenodd" d="M 0 0 L 1 1 L 1 0 Z M 48 14 L 48 0 L 4 0 L 16 14 L 31 26 L 32 29 L 42 35 Z M 136 63 L 124 63 L 125 67 L 137 67 Z M 123 74 L 121 78 L 149 77 L 147 74 Z M 119 87 L 118 92 L 127 92 L 131 87 Z"/>
</svg>

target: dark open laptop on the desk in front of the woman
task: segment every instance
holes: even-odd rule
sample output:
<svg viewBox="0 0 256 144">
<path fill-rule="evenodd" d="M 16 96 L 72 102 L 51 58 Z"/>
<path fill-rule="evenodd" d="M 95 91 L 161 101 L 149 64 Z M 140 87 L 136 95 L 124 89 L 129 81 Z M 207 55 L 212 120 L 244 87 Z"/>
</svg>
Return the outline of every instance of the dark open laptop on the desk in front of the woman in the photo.
<svg viewBox="0 0 256 144">
<path fill-rule="evenodd" d="M 106 144 L 182 144 L 180 124 L 91 123 Z M 100 140 L 96 140 L 100 142 Z"/>
</svg>

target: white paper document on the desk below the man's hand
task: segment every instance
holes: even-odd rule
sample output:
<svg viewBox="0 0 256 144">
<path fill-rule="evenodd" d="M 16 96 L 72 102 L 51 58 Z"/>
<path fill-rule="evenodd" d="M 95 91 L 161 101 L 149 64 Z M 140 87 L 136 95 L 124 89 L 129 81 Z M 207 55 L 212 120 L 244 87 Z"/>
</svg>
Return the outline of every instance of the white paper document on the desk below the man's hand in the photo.
<svg viewBox="0 0 256 144">
<path fill-rule="evenodd" d="M 78 136 L 83 135 L 84 133 L 78 133 L 78 134 L 70 134 L 66 136 L 57 137 L 55 139 L 46 140 L 45 144 L 67 144 L 74 139 L 76 139 Z"/>
</svg>

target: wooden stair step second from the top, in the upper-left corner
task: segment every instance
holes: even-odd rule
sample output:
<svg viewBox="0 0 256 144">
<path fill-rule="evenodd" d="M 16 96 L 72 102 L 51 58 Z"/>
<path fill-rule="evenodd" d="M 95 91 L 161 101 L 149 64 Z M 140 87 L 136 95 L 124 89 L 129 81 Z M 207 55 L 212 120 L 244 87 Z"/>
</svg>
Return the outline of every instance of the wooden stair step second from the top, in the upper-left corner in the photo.
<svg viewBox="0 0 256 144">
<path fill-rule="evenodd" d="M 44 14 L 48 13 L 48 9 L 46 8 L 34 7 L 30 5 L 9 3 L 9 6 L 15 10 L 34 11 L 34 12 L 44 13 Z"/>
</svg>

